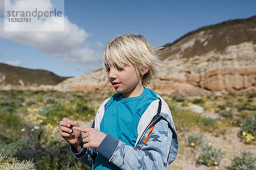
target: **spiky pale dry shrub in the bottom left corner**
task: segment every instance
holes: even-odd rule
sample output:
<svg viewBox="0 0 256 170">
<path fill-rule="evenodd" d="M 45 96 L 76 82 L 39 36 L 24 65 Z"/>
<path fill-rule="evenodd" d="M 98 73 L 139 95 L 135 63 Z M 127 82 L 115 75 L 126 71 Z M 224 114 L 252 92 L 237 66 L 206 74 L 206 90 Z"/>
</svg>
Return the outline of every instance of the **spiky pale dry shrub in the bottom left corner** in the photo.
<svg viewBox="0 0 256 170">
<path fill-rule="evenodd" d="M 16 158 L 0 154 L 1 170 L 36 170 L 35 164 L 30 160 L 19 161 Z"/>
</svg>

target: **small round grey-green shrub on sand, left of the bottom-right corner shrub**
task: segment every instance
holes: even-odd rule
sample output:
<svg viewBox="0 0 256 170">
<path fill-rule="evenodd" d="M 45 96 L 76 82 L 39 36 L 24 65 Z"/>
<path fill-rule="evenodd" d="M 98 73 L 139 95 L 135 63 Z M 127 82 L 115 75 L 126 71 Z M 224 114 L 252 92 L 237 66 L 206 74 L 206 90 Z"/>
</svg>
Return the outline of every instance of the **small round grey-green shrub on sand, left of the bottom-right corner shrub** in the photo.
<svg viewBox="0 0 256 170">
<path fill-rule="evenodd" d="M 204 144 L 202 147 L 199 147 L 198 150 L 198 163 L 205 164 L 208 167 L 218 165 L 224 156 L 224 152 L 222 150 L 218 150 L 217 148 L 208 144 Z"/>
</svg>

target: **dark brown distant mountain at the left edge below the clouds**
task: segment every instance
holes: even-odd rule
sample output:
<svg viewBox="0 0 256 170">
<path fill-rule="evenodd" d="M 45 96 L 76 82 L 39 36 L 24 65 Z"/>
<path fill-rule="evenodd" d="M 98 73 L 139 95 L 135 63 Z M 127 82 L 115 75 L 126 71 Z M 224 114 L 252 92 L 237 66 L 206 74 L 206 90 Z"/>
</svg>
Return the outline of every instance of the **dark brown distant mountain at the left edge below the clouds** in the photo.
<svg viewBox="0 0 256 170">
<path fill-rule="evenodd" d="M 64 79 L 50 71 L 32 70 L 0 63 L 0 85 L 57 85 Z"/>
</svg>

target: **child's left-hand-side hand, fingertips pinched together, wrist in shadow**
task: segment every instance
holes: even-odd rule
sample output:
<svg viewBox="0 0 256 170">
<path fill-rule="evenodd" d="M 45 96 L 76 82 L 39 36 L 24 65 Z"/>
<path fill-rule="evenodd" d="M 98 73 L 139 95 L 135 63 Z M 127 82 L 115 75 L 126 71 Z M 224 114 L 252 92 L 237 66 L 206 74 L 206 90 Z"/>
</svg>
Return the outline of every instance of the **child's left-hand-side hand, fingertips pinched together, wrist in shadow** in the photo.
<svg viewBox="0 0 256 170">
<path fill-rule="evenodd" d="M 80 127 L 78 122 L 63 118 L 59 125 L 61 125 L 61 137 L 69 142 L 77 152 L 80 152 L 82 149 L 81 132 L 72 130 L 72 127 Z"/>
</svg>

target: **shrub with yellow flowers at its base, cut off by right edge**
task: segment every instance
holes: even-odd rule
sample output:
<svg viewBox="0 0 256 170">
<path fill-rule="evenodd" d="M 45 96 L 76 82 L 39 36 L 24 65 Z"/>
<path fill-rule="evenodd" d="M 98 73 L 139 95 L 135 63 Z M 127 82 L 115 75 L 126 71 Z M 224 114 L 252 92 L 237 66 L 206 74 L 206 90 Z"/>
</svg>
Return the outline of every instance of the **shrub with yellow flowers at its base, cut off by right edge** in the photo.
<svg viewBox="0 0 256 170">
<path fill-rule="evenodd" d="M 247 143 L 255 140 L 256 137 L 256 113 L 245 119 L 244 125 L 240 129 L 240 137 Z"/>
</svg>

